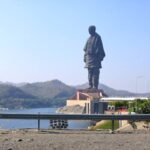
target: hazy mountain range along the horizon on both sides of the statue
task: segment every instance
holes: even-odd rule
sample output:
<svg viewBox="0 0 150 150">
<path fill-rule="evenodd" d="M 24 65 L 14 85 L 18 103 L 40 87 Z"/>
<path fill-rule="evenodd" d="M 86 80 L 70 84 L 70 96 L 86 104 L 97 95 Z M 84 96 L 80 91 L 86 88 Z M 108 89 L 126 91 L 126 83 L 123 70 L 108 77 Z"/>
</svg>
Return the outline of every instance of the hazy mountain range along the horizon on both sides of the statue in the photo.
<svg viewBox="0 0 150 150">
<path fill-rule="evenodd" d="M 52 107 L 65 105 L 66 99 L 72 97 L 77 89 L 85 89 L 88 84 L 68 86 L 59 80 L 36 83 L 10 83 L 0 82 L 0 107 L 6 108 L 31 108 Z M 115 90 L 104 84 L 100 89 L 108 96 L 136 96 L 123 90 Z M 138 96 L 150 96 L 150 93 L 138 94 Z"/>
</svg>

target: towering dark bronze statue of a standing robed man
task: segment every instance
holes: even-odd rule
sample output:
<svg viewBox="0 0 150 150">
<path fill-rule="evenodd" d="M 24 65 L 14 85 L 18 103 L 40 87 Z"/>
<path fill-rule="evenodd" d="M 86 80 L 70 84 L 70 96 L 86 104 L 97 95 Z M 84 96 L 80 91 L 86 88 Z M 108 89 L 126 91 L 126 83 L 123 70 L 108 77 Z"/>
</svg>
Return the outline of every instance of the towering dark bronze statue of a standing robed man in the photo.
<svg viewBox="0 0 150 150">
<path fill-rule="evenodd" d="M 90 37 L 84 47 L 85 68 L 88 69 L 88 89 L 98 89 L 100 68 L 102 68 L 101 62 L 105 57 L 105 52 L 101 37 L 96 33 L 95 26 L 89 27 L 89 34 Z"/>
</svg>

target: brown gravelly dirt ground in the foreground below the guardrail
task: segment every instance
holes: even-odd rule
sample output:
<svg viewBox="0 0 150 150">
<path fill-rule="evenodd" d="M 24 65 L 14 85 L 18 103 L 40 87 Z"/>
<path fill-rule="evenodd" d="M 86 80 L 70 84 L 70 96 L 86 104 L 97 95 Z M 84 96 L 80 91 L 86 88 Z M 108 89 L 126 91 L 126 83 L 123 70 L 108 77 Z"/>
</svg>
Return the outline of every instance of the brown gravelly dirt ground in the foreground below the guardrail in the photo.
<svg viewBox="0 0 150 150">
<path fill-rule="evenodd" d="M 150 150 L 150 131 L 0 130 L 0 150 Z"/>
</svg>

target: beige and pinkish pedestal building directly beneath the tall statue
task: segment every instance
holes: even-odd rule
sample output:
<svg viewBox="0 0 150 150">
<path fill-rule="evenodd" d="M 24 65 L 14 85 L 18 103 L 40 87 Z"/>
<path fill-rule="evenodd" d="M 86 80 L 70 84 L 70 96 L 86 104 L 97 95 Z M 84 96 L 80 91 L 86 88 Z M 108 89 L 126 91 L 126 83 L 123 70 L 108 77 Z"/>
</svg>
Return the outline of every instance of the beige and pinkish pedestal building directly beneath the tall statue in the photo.
<svg viewBox="0 0 150 150">
<path fill-rule="evenodd" d="M 78 90 L 75 96 L 67 100 L 67 106 L 80 105 L 86 114 L 103 114 L 108 103 L 101 101 L 101 98 L 106 96 L 102 90 Z"/>
</svg>

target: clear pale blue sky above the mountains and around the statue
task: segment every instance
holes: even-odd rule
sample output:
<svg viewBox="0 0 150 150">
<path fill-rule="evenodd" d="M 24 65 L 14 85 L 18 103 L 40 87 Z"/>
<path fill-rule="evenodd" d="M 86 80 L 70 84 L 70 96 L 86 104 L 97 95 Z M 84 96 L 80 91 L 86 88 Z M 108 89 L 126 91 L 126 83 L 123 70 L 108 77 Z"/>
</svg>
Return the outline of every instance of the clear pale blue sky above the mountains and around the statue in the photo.
<svg viewBox="0 0 150 150">
<path fill-rule="evenodd" d="M 150 92 L 149 0 L 0 0 L 0 81 L 88 82 L 90 25 L 106 53 L 100 83 Z"/>
</svg>

